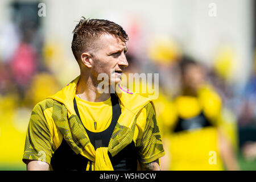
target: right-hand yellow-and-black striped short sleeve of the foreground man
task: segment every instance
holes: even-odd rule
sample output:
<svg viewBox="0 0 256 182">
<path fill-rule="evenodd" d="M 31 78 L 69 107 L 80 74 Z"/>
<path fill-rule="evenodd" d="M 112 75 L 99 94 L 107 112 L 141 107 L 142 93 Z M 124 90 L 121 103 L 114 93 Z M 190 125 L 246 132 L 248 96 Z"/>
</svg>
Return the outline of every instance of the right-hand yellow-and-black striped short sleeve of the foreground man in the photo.
<svg viewBox="0 0 256 182">
<path fill-rule="evenodd" d="M 146 109 L 146 125 L 138 146 L 139 162 L 151 163 L 164 156 L 164 149 L 158 125 L 156 123 L 155 109 L 152 103 L 144 106 Z"/>
</svg>

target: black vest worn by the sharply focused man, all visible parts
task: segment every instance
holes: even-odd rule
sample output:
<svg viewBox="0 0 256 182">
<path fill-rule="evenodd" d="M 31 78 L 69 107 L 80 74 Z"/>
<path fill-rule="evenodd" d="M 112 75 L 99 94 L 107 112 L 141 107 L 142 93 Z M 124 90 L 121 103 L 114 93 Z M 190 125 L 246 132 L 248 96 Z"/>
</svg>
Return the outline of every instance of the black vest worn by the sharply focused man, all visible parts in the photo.
<svg viewBox="0 0 256 182">
<path fill-rule="evenodd" d="M 86 129 L 86 133 L 90 139 L 90 143 L 93 144 L 95 150 L 98 147 L 108 147 L 109 140 L 112 137 L 112 133 L 119 115 L 121 115 L 121 108 L 119 106 L 118 97 L 115 94 L 111 94 L 112 101 L 112 121 L 108 129 L 100 132 L 93 133 Z M 77 116 L 80 118 L 79 111 L 77 109 L 76 100 L 74 98 L 74 108 Z M 81 118 L 80 118 L 81 120 Z M 112 162 L 114 170 L 121 171 L 135 171 L 137 170 L 137 150 L 134 142 L 130 143 L 128 146 L 123 148 L 117 155 L 113 156 L 108 152 L 109 159 Z M 63 139 L 60 147 L 54 152 L 51 159 L 51 166 L 53 170 L 76 170 L 82 171 L 86 170 L 86 166 L 90 162 L 89 171 L 92 170 L 92 162 L 82 156 L 81 154 L 76 154 L 68 143 Z"/>
</svg>

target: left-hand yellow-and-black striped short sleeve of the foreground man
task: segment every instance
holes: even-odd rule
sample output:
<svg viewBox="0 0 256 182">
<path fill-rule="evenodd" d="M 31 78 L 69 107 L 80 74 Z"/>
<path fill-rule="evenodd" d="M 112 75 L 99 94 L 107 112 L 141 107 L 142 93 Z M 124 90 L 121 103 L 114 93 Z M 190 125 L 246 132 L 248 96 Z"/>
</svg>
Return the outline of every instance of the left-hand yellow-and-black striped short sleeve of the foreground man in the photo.
<svg viewBox="0 0 256 182">
<path fill-rule="evenodd" d="M 53 142 L 42 104 L 37 104 L 32 110 L 28 123 L 23 162 L 40 160 L 51 163 Z"/>
</svg>

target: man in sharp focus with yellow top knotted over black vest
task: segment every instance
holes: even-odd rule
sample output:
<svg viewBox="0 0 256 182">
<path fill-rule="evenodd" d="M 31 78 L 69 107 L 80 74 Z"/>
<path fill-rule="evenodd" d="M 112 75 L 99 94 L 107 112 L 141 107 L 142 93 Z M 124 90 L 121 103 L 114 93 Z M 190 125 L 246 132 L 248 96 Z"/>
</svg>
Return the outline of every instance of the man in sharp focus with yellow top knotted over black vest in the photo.
<svg viewBox="0 0 256 182">
<path fill-rule="evenodd" d="M 154 106 L 118 85 L 128 66 L 127 40 L 109 20 L 80 20 L 72 52 L 81 74 L 34 107 L 23 155 L 28 170 L 160 169 L 164 150 Z M 99 89 L 100 73 L 110 78 L 108 92 Z"/>
</svg>

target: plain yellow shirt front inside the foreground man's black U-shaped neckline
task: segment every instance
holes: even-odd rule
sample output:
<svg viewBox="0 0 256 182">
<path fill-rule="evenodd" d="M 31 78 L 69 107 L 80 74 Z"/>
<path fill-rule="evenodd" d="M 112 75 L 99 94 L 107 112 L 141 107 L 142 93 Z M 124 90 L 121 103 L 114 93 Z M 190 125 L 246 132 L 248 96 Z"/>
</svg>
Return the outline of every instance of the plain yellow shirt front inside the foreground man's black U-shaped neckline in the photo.
<svg viewBox="0 0 256 182">
<path fill-rule="evenodd" d="M 92 132 L 101 132 L 109 127 L 112 121 L 111 97 L 103 102 L 89 102 L 76 97 L 76 103 L 81 122 L 86 126 L 86 129 Z M 94 126 L 94 122 L 96 122 L 96 126 Z"/>
</svg>

